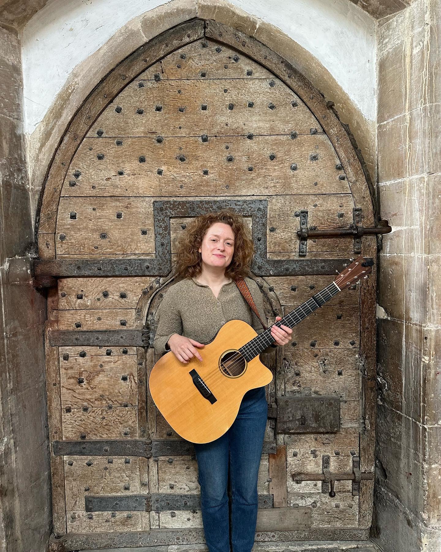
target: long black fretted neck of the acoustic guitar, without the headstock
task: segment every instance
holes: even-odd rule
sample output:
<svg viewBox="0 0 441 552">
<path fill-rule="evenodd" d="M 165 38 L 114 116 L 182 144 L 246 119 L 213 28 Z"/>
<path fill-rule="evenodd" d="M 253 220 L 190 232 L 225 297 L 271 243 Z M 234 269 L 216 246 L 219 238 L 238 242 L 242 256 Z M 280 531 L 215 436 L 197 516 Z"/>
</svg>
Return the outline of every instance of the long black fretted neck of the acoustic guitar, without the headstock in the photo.
<svg viewBox="0 0 441 552">
<path fill-rule="evenodd" d="M 285 315 L 282 320 L 278 320 L 277 322 L 275 322 L 274 326 L 281 327 L 282 324 L 283 326 L 288 326 L 289 328 L 297 326 L 297 324 L 299 322 L 302 322 L 302 320 L 305 319 L 306 316 L 309 316 L 311 312 L 319 309 L 327 301 L 332 299 L 334 295 L 337 295 L 339 291 L 341 291 L 341 289 L 338 287 L 338 285 L 335 282 L 332 282 L 332 284 L 326 286 L 326 288 L 319 291 L 319 293 L 316 293 L 307 301 L 302 303 L 302 305 L 299 305 L 296 309 Z M 259 355 L 274 342 L 275 339 L 271 335 L 271 328 L 268 328 L 267 330 L 260 333 L 258 336 L 252 338 L 251 341 L 245 343 L 245 345 L 240 347 L 239 352 L 246 360 L 249 361 L 257 357 L 257 355 Z"/>
</svg>

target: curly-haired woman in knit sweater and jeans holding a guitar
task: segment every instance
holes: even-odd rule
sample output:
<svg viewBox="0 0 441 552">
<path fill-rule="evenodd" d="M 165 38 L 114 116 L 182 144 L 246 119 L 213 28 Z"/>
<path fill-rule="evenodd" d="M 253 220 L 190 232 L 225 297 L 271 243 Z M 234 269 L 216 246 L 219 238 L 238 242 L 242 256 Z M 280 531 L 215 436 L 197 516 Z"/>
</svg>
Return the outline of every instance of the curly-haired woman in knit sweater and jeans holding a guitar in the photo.
<svg viewBox="0 0 441 552">
<path fill-rule="evenodd" d="M 241 295 L 235 279 L 244 277 L 257 310 L 265 319 L 259 286 L 249 278 L 254 246 L 248 226 L 232 209 L 196 217 L 178 244 L 176 279 L 158 309 L 153 346 L 171 351 L 180 362 L 202 360 L 204 343 L 229 320 L 243 320 L 257 333 L 263 327 Z M 276 322 L 281 320 L 276 317 Z M 271 327 L 276 344 L 286 345 L 292 329 Z M 194 443 L 201 486 L 202 523 L 209 552 L 229 552 L 228 468 L 232 486 L 231 545 L 250 552 L 257 520 L 257 473 L 262 455 L 268 404 L 265 386 L 250 389 L 232 426 L 209 443 Z"/>
</svg>

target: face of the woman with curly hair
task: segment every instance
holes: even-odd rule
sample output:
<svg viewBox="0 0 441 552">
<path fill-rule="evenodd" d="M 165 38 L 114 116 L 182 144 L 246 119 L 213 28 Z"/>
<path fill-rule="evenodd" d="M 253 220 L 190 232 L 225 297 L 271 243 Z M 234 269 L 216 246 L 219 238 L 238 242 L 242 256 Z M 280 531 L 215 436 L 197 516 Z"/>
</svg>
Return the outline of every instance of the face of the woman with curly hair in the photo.
<svg viewBox="0 0 441 552">
<path fill-rule="evenodd" d="M 232 227 L 224 222 L 214 222 L 203 237 L 198 251 L 202 254 L 202 265 L 227 268 L 234 253 Z"/>
</svg>

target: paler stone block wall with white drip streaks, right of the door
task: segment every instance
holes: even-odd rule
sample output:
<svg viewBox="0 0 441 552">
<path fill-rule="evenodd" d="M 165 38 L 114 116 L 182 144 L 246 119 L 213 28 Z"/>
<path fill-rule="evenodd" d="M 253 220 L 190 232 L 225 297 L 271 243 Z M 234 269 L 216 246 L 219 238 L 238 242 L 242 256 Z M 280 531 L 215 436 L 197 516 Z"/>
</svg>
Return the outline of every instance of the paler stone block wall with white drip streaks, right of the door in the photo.
<svg viewBox="0 0 441 552">
<path fill-rule="evenodd" d="M 440 549 L 440 2 L 378 23 L 376 540 Z"/>
</svg>

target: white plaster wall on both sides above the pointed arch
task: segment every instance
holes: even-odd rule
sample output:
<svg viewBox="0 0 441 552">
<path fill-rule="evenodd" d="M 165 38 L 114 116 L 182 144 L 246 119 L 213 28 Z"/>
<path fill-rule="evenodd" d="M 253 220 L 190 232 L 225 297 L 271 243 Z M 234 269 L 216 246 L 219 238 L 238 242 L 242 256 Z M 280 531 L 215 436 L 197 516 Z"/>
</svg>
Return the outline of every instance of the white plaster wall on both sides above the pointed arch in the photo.
<svg viewBox="0 0 441 552">
<path fill-rule="evenodd" d="M 23 31 L 25 132 L 32 134 L 76 65 L 160 0 L 52 0 Z M 232 0 L 310 51 L 374 121 L 375 20 L 348 0 Z"/>
</svg>

